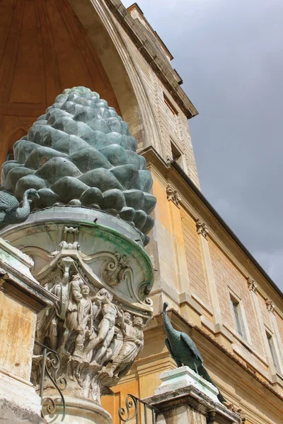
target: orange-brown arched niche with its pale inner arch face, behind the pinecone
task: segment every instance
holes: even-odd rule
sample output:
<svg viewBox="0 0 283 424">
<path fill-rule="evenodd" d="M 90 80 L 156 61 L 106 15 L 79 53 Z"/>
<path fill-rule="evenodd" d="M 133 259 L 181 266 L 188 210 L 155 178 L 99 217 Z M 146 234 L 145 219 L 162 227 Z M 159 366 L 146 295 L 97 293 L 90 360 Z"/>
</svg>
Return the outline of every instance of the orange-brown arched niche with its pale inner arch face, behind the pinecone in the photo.
<svg viewBox="0 0 283 424">
<path fill-rule="evenodd" d="M 129 123 L 132 135 L 141 136 L 137 98 L 98 4 L 0 2 L 0 165 L 21 129 L 73 86 L 97 91 Z"/>
</svg>

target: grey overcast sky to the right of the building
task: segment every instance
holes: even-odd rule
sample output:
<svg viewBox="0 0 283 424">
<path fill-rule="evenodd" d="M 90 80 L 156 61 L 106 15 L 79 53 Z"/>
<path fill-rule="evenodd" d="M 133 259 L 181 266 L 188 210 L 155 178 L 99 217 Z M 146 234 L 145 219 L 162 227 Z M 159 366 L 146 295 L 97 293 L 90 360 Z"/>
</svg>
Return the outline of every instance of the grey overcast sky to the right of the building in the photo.
<svg viewBox="0 0 283 424">
<path fill-rule="evenodd" d="M 283 0 L 138 4 L 200 113 L 189 126 L 204 196 L 283 290 Z"/>
</svg>

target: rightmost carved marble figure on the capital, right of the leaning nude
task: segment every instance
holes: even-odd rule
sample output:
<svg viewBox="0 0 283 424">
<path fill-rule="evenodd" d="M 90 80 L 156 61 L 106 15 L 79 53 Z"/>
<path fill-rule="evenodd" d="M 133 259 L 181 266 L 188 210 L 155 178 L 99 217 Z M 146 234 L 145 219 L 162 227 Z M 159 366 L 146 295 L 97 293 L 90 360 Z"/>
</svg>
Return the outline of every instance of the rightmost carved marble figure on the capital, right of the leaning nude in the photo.
<svg viewBox="0 0 283 424">
<path fill-rule="evenodd" d="M 122 331 L 124 332 L 124 342 L 118 355 L 113 358 L 112 365 L 109 369 L 110 377 L 113 377 L 113 375 L 119 375 L 119 377 L 126 375 L 129 368 L 132 367 L 134 358 L 136 358 L 144 347 L 143 319 L 141 317 L 134 317 L 134 325 L 131 325 L 127 322 L 126 312 L 125 314 L 126 320 L 124 317 L 124 322 L 121 324 Z"/>
</svg>

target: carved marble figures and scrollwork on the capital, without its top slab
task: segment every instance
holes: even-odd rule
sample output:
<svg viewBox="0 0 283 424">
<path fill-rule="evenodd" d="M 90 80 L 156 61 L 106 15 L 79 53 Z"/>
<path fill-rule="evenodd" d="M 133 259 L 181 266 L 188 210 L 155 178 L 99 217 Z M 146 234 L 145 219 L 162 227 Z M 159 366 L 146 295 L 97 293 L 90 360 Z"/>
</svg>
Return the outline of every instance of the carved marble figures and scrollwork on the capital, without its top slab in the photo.
<svg viewBox="0 0 283 424">
<path fill-rule="evenodd" d="M 71 247 L 60 242 L 50 266 L 37 276 L 58 301 L 38 314 L 36 340 L 58 353 L 57 379 L 66 382 L 72 394 L 99 403 L 101 394 L 109 393 L 143 348 L 142 329 L 151 312 L 135 309 L 117 295 L 115 288 L 125 274 L 133 275 L 126 255 L 117 251 L 94 255 L 101 263 L 99 277 L 86 265 L 89 257 L 77 247 L 78 242 Z M 141 291 L 146 295 L 145 289 Z M 36 346 L 35 387 L 40 384 L 41 358 Z"/>
</svg>

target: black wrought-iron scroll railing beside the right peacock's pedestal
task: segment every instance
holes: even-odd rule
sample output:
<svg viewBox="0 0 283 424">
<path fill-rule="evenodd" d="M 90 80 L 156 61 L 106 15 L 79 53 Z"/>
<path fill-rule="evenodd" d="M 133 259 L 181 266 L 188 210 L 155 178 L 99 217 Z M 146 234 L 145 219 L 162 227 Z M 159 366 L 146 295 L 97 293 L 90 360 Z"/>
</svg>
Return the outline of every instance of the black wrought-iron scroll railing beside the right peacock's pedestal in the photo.
<svg viewBox="0 0 283 424">
<path fill-rule="evenodd" d="M 118 416 L 122 423 L 136 424 L 156 424 L 156 418 L 158 416 L 158 409 L 154 408 L 141 399 L 127 394 L 125 400 L 125 408 L 118 409 Z"/>
</svg>

